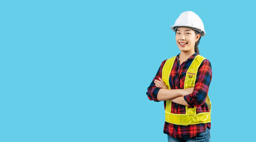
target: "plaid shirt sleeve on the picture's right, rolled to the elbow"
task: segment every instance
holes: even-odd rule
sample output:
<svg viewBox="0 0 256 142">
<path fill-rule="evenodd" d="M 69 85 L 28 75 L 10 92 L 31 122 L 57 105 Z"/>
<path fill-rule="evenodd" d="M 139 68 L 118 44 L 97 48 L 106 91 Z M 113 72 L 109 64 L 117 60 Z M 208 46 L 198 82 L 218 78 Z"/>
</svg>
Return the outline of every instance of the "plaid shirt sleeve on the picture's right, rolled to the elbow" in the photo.
<svg viewBox="0 0 256 142">
<path fill-rule="evenodd" d="M 190 107 L 198 107 L 205 103 L 211 83 L 211 75 L 211 63 L 205 59 L 201 66 L 199 66 L 194 91 L 190 95 L 184 96 L 185 101 Z"/>
</svg>

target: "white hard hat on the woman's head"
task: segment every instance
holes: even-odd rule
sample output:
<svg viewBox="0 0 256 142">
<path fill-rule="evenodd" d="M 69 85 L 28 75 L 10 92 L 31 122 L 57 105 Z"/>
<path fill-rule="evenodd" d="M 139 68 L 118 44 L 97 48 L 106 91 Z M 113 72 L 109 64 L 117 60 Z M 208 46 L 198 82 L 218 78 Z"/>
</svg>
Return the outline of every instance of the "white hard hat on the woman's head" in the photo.
<svg viewBox="0 0 256 142">
<path fill-rule="evenodd" d="M 204 23 L 202 22 L 201 18 L 193 11 L 182 12 L 182 14 L 180 14 L 180 16 L 175 21 L 175 24 L 171 25 L 171 30 L 175 31 L 175 27 L 189 27 L 194 30 L 201 31 L 202 37 L 206 34 L 204 30 Z"/>
</svg>

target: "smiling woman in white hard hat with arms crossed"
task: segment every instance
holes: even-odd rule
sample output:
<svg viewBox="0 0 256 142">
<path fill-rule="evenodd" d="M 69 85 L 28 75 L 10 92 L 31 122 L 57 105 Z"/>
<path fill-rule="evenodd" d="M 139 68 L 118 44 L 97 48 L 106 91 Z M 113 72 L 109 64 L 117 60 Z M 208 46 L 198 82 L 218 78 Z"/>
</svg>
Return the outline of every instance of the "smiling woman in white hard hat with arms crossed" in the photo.
<svg viewBox="0 0 256 142">
<path fill-rule="evenodd" d="M 211 63 L 198 50 L 204 24 L 194 12 L 185 11 L 171 29 L 180 53 L 162 62 L 146 94 L 164 101 L 168 141 L 210 141 Z"/>
</svg>

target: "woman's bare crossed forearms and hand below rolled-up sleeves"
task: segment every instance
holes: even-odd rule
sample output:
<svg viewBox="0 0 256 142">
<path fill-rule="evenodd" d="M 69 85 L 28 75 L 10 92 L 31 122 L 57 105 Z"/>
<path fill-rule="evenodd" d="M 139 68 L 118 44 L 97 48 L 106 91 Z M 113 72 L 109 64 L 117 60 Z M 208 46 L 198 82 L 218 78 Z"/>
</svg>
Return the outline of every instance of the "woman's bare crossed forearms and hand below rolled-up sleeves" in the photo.
<svg viewBox="0 0 256 142">
<path fill-rule="evenodd" d="M 185 101 L 184 96 L 189 95 L 193 92 L 194 88 L 188 89 L 168 89 L 166 83 L 164 83 L 163 79 L 159 78 L 159 80 L 154 80 L 155 86 L 161 88 L 157 93 L 158 101 L 166 101 L 171 100 L 176 104 L 186 105 L 188 103 Z"/>
</svg>

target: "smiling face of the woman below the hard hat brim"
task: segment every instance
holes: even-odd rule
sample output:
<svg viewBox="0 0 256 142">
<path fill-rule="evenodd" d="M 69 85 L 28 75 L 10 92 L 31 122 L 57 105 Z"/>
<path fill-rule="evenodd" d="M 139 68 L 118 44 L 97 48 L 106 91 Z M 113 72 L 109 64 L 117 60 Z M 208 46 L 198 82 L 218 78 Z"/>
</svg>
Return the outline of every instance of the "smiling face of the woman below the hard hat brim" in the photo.
<svg viewBox="0 0 256 142">
<path fill-rule="evenodd" d="M 195 34 L 191 28 L 180 27 L 176 31 L 176 43 L 181 52 L 195 53 L 195 43 L 200 34 Z"/>
</svg>

